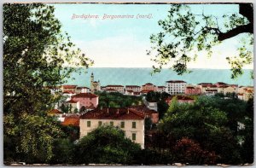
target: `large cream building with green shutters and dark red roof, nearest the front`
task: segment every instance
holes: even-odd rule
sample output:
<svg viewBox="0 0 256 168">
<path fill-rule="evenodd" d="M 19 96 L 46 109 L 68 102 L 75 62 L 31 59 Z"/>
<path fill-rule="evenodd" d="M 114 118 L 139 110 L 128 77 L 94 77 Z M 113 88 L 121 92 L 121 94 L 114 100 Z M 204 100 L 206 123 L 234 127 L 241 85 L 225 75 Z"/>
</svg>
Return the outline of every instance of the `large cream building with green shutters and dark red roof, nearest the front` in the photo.
<svg viewBox="0 0 256 168">
<path fill-rule="evenodd" d="M 97 108 L 80 117 L 80 138 L 98 126 L 108 124 L 119 126 L 127 138 L 144 148 L 144 119 L 143 113 L 131 108 Z"/>
</svg>

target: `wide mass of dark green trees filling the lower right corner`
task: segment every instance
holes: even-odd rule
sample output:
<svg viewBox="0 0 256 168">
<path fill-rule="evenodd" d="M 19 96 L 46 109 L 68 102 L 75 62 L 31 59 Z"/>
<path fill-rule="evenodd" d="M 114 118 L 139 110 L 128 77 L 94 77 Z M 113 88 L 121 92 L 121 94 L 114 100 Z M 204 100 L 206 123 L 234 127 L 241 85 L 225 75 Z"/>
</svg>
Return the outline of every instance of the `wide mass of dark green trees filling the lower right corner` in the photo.
<svg viewBox="0 0 256 168">
<path fill-rule="evenodd" d="M 172 101 L 165 117 L 160 120 L 159 131 L 162 132 L 164 139 L 161 140 L 160 136 L 158 138 L 155 136 L 153 143 L 161 144 L 157 148 L 169 150 L 171 155 L 176 158 L 175 162 L 177 159 L 183 161 L 186 159 L 191 164 L 248 163 L 248 160 L 252 159 L 245 159 L 242 154 L 247 150 L 248 158 L 252 158 L 253 148 L 249 149 L 246 143 L 239 145 L 239 137 L 250 142 L 253 139 L 253 118 L 252 116 L 249 118 L 248 113 L 252 114 L 252 110 L 247 109 L 247 103 L 236 97 L 224 99 L 221 96 L 199 96 L 194 104 Z M 237 132 L 238 121 L 251 124 L 247 124 L 245 130 Z M 190 144 L 198 143 L 200 146 L 196 149 L 198 156 L 206 154 L 206 158 L 197 159 L 198 162 L 196 162 L 196 159 L 193 159 L 195 155 L 190 155 L 190 157 L 189 151 L 172 153 L 175 151 L 175 148 L 172 148 L 173 144 L 177 144 L 183 137 L 188 137 L 189 141 L 193 141 Z M 195 144 L 193 146 L 195 147 Z M 178 149 L 178 151 L 181 150 Z M 230 151 L 232 151 L 231 155 Z M 177 154 L 182 155 L 178 156 Z M 215 159 L 211 159 L 212 154 L 216 154 Z"/>
</svg>

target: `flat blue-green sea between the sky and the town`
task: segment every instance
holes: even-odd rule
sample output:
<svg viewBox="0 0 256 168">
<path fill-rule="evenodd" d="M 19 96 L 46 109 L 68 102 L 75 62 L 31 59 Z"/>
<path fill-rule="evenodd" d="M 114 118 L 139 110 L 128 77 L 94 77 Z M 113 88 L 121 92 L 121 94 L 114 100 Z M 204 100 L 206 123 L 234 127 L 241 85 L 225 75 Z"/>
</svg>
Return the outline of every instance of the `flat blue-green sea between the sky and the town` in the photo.
<svg viewBox="0 0 256 168">
<path fill-rule="evenodd" d="M 168 80 L 183 80 L 188 84 L 217 83 L 238 84 L 253 86 L 251 69 L 245 69 L 243 75 L 231 78 L 230 69 L 190 69 L 192 72 L 177 75 L 170 69 L 162 69 L 159 73 L 152 74 L 152 68 L 126 68 L 126 67 L 90 67 L 79 68 L 80 72 L 73 72 L 67 78 L 66 84 L 90 87 L 90 75 L 93 72 L 94 80 L 100 81 L 101 86 L 108 84 L 143 85 L 147 83 L 157 86 L 166 85 Z"/>
</svg>

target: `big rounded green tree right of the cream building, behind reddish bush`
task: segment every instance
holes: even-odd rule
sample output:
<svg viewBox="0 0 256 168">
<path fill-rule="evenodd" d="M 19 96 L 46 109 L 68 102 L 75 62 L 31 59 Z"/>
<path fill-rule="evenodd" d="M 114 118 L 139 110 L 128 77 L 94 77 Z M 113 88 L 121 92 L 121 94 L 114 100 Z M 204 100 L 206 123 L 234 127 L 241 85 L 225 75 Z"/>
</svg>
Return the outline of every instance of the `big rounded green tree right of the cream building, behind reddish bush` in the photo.
<svg viewBox="0 0 256 168">
<path fill-rule="evenodd" d="M 216 154 L 217 163 L 239 164 L 240 148 L 228 122 L 227 113 L 219 110 L 214 104 L 211 106 L 211 100 L 209 102 L 208 99 L 199 98 L 194 104 L 173 101 L 164 119 L 160 121 L 159 130 L 169 137 L 169 144 L 188 137 L 198 142 L 202 150 Z M 170 151 L 172 147 L 173 145 L 166 146 Z"/>
</svg>

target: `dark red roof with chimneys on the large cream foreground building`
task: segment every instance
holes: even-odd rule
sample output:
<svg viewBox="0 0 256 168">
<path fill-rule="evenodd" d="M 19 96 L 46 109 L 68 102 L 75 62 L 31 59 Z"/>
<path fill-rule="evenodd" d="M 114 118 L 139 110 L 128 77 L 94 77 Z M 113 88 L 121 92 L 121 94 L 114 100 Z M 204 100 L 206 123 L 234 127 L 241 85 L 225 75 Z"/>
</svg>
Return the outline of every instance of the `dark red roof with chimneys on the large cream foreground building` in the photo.
<svg viewBox="0 0 256 168">
<path fill-rule="evenodd" d="M 96 108 L 84 113 L 80 119 L 144 119 L 145 115 L 131 108 Z"/>
</svg>

